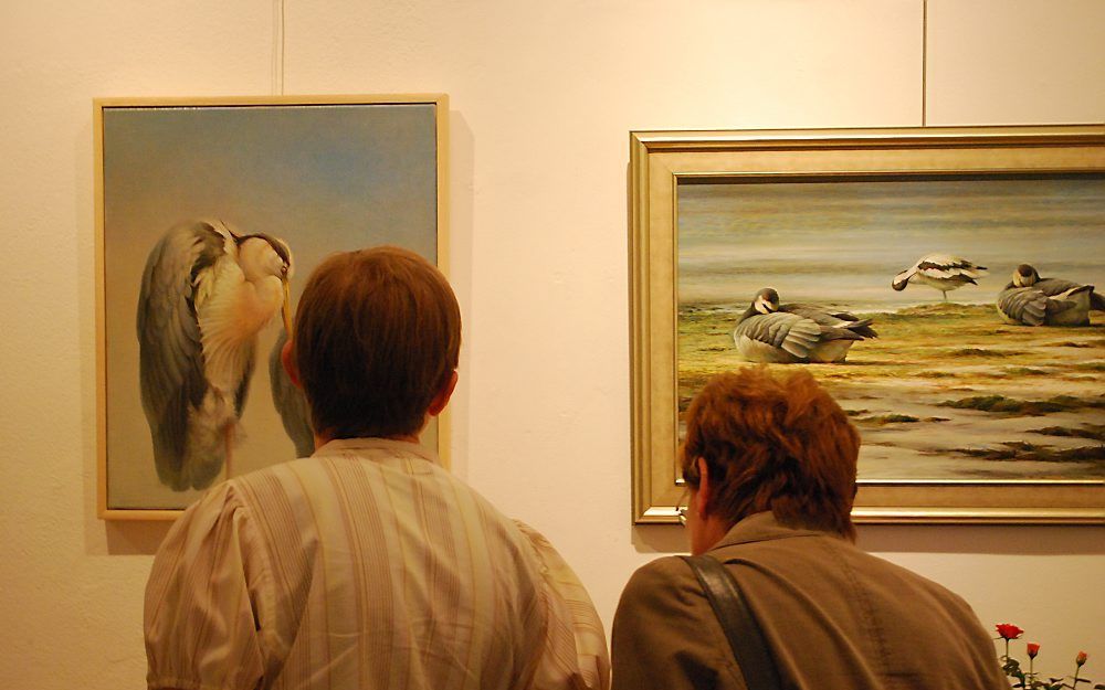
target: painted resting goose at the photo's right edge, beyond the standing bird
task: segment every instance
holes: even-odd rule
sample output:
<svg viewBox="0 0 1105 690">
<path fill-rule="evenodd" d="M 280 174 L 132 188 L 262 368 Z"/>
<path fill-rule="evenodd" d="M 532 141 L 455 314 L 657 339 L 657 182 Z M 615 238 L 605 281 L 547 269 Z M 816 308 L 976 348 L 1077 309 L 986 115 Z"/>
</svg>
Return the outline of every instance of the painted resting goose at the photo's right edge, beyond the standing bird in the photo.
<svg viewBox="0 0 1105 690">
<path fill-rule="evenodd" d="M 1093 285 L 1041 278 L 1029 264 L 1018 266 L 998 295 L 998 312 L 1010 323 L 1088 326 L 1091 310 L 1105 311 L 1105 298 Z"/>
</svg>

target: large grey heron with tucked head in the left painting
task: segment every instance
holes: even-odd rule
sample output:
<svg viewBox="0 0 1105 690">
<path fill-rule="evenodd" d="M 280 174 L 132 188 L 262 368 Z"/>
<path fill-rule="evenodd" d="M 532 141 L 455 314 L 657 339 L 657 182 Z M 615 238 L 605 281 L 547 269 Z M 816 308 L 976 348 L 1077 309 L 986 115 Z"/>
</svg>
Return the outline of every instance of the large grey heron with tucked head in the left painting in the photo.
<svg viewBox="0 0 1105 690">
<path fill-rule="evenodd" d="M 170 229 L 149 253 L 138 297 L 141 404 L 162 484 L 203 489 L 230 461 L 257 333 L 288 316 L 292 252 L 221 221 Z"/>
</svg>

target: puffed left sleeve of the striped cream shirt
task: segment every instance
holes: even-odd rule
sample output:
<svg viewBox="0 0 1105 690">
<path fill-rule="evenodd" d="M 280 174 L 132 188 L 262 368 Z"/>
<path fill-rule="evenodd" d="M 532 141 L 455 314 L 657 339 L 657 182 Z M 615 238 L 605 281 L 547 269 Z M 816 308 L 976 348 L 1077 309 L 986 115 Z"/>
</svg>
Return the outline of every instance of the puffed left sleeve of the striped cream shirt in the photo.
<svg viewBox="0 0 1105 690">
<path fill-rule="evenodd" d="M 146 585 L 150 690 L 252 690 L 264 675 L 256 599 L 266 569 L 228 485 L 172 527 Z"/>
</svg>

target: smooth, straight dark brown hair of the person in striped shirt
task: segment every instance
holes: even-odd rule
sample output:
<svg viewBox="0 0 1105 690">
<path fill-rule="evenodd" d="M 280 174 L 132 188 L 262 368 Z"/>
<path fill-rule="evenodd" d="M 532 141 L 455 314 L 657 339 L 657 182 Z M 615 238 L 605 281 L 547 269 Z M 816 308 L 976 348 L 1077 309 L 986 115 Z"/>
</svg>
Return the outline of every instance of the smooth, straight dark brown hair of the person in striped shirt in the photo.
<svg viewBox="0 0 1105 690">
<path fill-rule="evenodd" d="M 418 433 L 456 369 L 461 314 L 445 277 L 398 247 L 335 254 L 311 275 L 294 352 L 312 424 L 329 438 Z"/>
</svg>

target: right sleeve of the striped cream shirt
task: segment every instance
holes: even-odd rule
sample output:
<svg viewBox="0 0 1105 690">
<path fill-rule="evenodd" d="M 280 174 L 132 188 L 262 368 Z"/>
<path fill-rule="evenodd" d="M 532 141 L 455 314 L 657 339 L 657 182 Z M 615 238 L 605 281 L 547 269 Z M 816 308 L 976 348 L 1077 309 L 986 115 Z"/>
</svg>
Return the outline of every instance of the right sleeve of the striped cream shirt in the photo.
<svg viewBox="0 0 1105 690">
<path fill-rule="evenodd" d="M 515 520 L 537 559 L 541 601 L 546 608 L 546 638 L 535 690 L 608 690 L 610 656 L 594 604 L 579 577 L 552 544 L 528 524 Z"/>
</svg>

